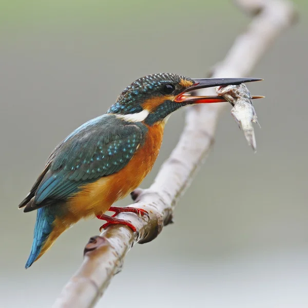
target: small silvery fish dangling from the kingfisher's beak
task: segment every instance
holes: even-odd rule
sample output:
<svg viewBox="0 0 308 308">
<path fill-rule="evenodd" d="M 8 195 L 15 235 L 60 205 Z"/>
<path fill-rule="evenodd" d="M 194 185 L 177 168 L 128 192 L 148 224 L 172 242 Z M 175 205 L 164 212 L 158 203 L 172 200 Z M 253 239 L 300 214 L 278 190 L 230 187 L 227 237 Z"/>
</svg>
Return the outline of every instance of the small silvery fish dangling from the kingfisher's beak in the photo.
<svg viewBox="0 0 308 308">
<path fill-rule="evenodd" d="M 231 114 L 244 132 L 244 136 L 253 150 L 256 152 L 257 144 L 252 122 L 260 126 L 252 99 L 263 97 L 252 97 L 244 84 L 216 87 L 216 92 L 226 99 L 233 108 Z"/>
</svg>

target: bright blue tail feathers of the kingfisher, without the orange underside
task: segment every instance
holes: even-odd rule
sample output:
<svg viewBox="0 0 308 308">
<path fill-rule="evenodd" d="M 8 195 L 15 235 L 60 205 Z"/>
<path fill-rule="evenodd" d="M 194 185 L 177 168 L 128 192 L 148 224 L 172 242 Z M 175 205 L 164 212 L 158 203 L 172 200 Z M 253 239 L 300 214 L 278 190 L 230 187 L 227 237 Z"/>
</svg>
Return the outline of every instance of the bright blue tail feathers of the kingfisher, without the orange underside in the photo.
<svg viewBox="0 0 308 308">
<path fill-rule="evenodd" d="M 53 228 L 53 221 L 55 216 L 49 206 L 44 206 L 37 209 L 36 222 L 34 227 L 33 243 L 31 247 L 30 256 L 26 263 L 26 268 L 30 267 L 40 254 L 45 241 Z"/>
</svg>

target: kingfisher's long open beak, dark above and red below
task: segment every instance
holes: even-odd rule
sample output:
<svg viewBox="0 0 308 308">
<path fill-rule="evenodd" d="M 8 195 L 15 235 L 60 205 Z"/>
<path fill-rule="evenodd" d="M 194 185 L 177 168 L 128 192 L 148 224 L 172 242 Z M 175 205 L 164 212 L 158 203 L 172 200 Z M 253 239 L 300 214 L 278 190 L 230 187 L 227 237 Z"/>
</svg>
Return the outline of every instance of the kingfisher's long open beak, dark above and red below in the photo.
<svg viewBox="0 0 308 308">
<path fill-rule="evenodd" d="M 188 87 L 182 93 L 178 94 L 175 102 L 187 104 L 208 104 L 226 102 L 222 96 L 192 96 L 189 94 L 191 91 L 228 85 L 240 85 L 246 82 L 261 81 L 259 78 L 204 78 L 193 79 L 195 82 L 192 86 Z M 253 96 L 252 99 L 261 99 L 263 96 Z"/>
</svg>

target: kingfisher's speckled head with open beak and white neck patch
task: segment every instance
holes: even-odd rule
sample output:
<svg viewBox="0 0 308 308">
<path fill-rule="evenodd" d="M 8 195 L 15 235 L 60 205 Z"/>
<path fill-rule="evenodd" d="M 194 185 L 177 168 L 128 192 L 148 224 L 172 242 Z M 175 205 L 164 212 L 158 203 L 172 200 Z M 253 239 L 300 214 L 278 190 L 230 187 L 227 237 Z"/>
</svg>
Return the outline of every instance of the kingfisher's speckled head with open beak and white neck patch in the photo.
<svg viewBox="0 0 308 308">
<path fill-rule="evenodd" d="M 144 121 L 153 125 L 164 121 L 171 112 L 186 105 L 225 102 L 222 97 L 192 96 L 189 94 L 191 91 L 258 80 L 260 79 L 191 79 L 173 73 L 147 75 L 124 89 L 107 113 L 113 113 L 129 122 Z"/>
</svg>

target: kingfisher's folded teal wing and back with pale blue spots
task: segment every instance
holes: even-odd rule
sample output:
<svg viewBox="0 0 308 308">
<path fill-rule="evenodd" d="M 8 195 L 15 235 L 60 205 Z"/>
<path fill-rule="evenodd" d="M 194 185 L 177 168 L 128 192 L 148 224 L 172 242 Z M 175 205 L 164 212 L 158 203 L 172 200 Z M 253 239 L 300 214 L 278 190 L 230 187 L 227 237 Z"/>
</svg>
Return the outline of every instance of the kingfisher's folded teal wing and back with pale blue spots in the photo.
<svg viewBox="0 0 308 308">
<path fill-rule="evenodd" d="M 118 172 L 142 146 L 146 132 L 141 123 L 109 114 L 83 124 L 54 149 L 20 207 L 30 211 L 65 200 L 82 185 Z"/>
</svg>

